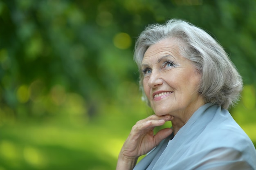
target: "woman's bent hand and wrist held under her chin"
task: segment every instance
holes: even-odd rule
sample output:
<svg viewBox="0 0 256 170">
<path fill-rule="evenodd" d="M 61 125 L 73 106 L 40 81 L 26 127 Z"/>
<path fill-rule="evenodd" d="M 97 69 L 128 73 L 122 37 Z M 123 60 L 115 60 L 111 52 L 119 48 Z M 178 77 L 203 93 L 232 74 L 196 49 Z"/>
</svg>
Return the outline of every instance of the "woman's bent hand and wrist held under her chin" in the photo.
<svg viewBox="0 0 256 170">
<path fill-rule="evenodd" d="M 131 170 L 137 158 L 155 148 L 163 139 L 171 135 L 173 130 L 165 128 L 154 135 L 154 128 L 162 126 L 166 121 L 171 121 L 170 115 L 151 115 L 146 119 L 138 121 L 126 139 L 118 157 L 117 170 Z"/>
</svg>

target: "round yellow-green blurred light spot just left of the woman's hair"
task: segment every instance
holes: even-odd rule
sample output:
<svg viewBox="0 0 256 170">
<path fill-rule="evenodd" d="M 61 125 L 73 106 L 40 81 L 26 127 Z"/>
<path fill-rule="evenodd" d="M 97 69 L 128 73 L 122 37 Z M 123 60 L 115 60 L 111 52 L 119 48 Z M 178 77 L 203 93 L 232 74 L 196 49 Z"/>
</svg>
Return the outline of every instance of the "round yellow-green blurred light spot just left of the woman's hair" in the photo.
<svg viewBox="0 0 256 170">
<path fill-rule="evenodd" d="M 117 33 L 113 39 L 113 43 L 119 49 L 128 49 L 132 44 L 132 40 L 127 33 Z"/>
</svg>

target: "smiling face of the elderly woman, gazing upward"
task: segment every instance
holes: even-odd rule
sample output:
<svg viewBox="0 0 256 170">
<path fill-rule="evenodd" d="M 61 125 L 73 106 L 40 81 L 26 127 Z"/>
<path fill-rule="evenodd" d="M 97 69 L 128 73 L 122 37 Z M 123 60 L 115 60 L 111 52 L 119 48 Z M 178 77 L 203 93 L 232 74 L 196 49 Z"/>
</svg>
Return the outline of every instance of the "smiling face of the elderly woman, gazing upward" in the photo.
<svg viewBox="0 0 256 170">
<path fill-rule="evenodd" d="M 182 57 L 176 39 L 150 46 L 142 60 L 143 86 L 156 115 L 191 115 L 204 104 L 198 93 L 201 75 Z M 183 45 L 183 43 L 179 43 Z"/>
</svg>

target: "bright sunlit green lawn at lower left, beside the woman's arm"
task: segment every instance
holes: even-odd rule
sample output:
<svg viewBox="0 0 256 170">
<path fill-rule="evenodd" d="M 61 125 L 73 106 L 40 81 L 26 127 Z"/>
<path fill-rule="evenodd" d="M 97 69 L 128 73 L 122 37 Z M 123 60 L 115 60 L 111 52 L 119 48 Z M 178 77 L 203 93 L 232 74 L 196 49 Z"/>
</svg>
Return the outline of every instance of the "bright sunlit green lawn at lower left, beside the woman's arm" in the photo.
<svg viewBox="0 0 256 170">
<path fill-rule="evenodd" d="M 1 129 L 0 170 L 115 167 L 124 137 L 108 126 L 17 124 Z"/>
</svg>

